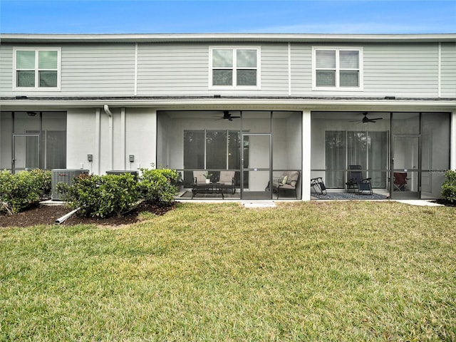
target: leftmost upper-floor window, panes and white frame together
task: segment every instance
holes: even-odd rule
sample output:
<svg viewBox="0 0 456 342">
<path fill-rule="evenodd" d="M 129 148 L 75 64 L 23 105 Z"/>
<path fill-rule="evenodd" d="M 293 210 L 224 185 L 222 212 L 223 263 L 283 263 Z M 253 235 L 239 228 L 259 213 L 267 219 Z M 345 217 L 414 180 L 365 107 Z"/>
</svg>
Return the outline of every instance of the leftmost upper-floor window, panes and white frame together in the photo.
<svg viewBox="0 0 456 342">
<path fill-rule="evenodd" d="M 60 48 L 15 48 L 14 89 L 59 90 Z"/>
</svg>

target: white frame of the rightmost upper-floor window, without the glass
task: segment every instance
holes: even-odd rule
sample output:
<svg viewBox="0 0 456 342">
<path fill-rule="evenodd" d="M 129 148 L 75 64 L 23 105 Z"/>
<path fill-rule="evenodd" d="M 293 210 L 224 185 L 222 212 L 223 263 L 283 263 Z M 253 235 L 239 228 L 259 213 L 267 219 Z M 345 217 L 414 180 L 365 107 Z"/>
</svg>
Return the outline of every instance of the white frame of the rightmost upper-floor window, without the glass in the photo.
<svg viewBox="0 0 456 342">
<path fill-rule="evenodd" d="M 336 68 L 331 69 L 336 71 L 336 85 L 331 87 L 316 86 L 316 51 L 336 51 Z M 355 70 L 355 69 L 341 69 L 339 56 L 340 51 L 358 51 L 359 65 L 358 65 L 358 87 L 341 87 L 340 85 L 340 72 L 341 70 Z M 364 77 L 363 77 L 363 48 L 360 46 L 312 46 L 312 90 L 337 90 L 337 91 L 363 91 L 364 90 Z"/>
</svg>

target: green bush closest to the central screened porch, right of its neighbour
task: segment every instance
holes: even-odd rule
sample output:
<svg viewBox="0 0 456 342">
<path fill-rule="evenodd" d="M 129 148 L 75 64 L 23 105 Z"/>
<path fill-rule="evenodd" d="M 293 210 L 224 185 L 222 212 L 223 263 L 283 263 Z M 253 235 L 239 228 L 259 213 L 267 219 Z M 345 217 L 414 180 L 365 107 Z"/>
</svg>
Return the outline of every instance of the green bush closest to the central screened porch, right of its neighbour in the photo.
<svg viewBox="0 0 456 342">
<path fill-rule="evenodd" d="M 140 169 L 141 197 L 145 202 L 160 206 L 170 205 L 175 200 L 177 172 L 170 169 Z"/>
</svg>

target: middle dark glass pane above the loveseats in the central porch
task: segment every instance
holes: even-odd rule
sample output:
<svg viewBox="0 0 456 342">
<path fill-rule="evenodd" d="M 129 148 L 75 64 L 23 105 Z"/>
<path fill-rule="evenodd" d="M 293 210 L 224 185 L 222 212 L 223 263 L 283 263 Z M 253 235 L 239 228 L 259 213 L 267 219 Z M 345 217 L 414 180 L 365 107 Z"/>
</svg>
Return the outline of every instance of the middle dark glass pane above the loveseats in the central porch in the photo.
<svg viewBox="0 0 456 342">
<path fill-rule="evenodd" d="M 227 131 L 208 130 L 206 133 L 206 168 L 227 168 Z"/>
</svg>

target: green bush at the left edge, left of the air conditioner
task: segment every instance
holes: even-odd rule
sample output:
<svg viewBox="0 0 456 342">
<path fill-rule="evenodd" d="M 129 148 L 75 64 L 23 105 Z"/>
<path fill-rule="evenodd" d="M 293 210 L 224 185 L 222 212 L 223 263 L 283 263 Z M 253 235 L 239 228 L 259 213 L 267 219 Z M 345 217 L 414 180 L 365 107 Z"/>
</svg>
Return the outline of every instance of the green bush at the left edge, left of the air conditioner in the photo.
<svg viewBox="0 0 456 342">
<path fill-rule="evenodd" d="M 8 170 L 0 172 L 0 212 L 17 214 L 50 193 L 50 171 L 36 169 L 14 175 Z"/>
</svg>

